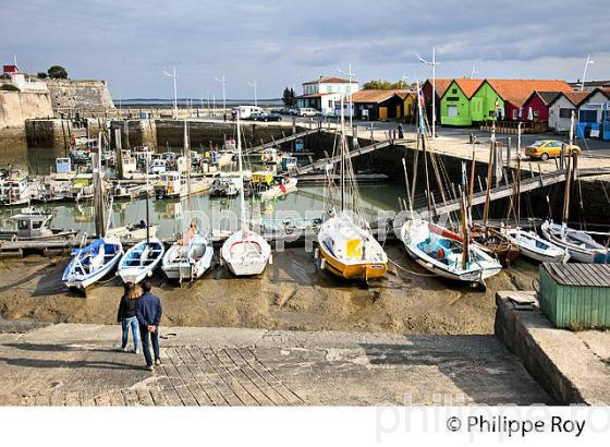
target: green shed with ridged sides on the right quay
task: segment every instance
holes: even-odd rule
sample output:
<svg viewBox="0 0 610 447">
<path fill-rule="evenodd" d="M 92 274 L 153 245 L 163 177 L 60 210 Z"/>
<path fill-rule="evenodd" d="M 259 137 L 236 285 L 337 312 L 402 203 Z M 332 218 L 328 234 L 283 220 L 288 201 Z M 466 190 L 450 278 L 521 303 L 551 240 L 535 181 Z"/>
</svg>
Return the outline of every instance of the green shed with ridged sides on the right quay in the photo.
<svg viewBox="0 0 610 447">
<path fill-rule="evenodd" d="M 610 265 L 542 264 L 540 310 L 557 327 L 610 329 Z"/>
</svg>

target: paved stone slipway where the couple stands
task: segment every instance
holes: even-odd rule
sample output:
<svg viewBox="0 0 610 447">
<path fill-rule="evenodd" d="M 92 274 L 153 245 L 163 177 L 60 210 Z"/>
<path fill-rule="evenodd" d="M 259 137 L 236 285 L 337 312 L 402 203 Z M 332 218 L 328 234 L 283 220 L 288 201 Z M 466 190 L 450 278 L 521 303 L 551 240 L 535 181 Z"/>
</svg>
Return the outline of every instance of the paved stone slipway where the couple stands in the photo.
<svg viewBox="0 0 610 447">
<path fill-rule="evenodd" d="M 163 364 L 149 373 L 141 354 L 113 350 L 119 326 L 0 334 L 0 404 L 550 402 L 492 336 L 185 327 L 161 336 Z"/>
</svg>

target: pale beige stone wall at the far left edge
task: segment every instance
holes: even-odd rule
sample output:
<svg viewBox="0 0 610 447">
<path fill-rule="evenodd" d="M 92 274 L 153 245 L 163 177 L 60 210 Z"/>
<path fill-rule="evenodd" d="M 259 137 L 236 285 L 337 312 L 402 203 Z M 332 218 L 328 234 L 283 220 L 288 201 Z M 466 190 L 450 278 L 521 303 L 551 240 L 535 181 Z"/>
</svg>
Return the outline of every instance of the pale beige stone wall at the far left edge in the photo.
<svg viewBox="0 0 610 447">
<path fill-rule="evenodd" d="M 23 129 L 25 120 L 52 116 L 48 93 L 0 92 L 0 129 Z"/>
</svg>

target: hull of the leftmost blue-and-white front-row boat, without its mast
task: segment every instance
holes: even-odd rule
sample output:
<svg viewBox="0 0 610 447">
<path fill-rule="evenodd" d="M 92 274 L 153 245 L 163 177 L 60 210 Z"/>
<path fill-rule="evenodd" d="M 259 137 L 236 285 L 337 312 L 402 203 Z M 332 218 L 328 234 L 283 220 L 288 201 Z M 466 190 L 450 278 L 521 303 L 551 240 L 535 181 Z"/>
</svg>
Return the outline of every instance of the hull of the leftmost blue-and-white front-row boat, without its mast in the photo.
<svg viewBox="0 0 610 447">
<path fill-rule="evenodd" d="M 117 238 L 99 238 L 85 247 L 73 251 L 73 259 L 63 271 L 61 281 L 69 289 L 84 290 L 117 267 L 123 245 Z"/>
</svg>

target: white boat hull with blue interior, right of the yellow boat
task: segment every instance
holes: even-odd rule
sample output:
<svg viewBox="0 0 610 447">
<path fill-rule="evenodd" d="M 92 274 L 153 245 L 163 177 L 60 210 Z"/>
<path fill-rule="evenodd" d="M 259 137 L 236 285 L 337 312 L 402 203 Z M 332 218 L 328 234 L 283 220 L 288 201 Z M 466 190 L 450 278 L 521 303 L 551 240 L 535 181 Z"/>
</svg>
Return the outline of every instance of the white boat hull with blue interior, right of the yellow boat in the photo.
<svg viewBox="0 0 610 447">
<path fill-rule="evenodd" d="M 484 281 L 500 273 L 502 265 L 476 245 L 468 245 L 464 264 L 463 238 L 426 220 L 407 220 L 400 238 L 408 255 L 428 271 L 465 282 Z"/>
</svg>

